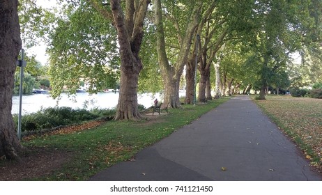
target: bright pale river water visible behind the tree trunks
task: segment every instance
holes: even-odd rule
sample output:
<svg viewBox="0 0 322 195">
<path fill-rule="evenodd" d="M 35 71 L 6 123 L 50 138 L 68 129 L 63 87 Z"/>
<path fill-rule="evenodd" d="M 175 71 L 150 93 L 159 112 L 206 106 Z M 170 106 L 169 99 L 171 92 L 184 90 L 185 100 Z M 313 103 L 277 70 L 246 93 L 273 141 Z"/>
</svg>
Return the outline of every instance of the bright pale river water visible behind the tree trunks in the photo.
<svg viewBox="0 0 322 195">
<path fill-rule="evenodd" d="M 185 93 L 181 92 L 181 96 L 185 96 Z M 153 100 L 158 98 L 160 100 L 160 94 L 153 95 L 151 93 L 138 94 L 139 104 L 144 105 L 148 108 L 153 105 Z M 12 114 L 19 113 L 19 96 L 13 96 L 13 109 Z M 42 108 L 47 107 L 71 107 L 72 109 L 93 109 L 98 107 L 100 109 L 113 109 L 118 103 L 118 93 L 77 93 L 75 98 L 66 93 L 61 94 L 61 99 L 59 101 L 54 100 L 49 94 L 33 94 L 22 96 L 22 114 L 29 114 L 39 111 Z M 84 105 L 86 104 L 86 107 Z"/>
</svg>

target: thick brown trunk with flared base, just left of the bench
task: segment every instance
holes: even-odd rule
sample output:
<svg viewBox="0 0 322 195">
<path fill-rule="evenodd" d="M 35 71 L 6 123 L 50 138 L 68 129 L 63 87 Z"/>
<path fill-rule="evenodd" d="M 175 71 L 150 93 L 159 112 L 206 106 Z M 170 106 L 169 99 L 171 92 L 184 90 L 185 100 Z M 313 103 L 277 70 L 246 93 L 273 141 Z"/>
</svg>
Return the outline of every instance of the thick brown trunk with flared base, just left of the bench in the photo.
<svg viewBox="0 0 322 195">
<path fill-rule="evenodd" d="M 141 118 L 137 104 L 139 72 L 142 69 L 139 49 L 144 35 L 146 10 L 151 0 L 125 2 L 125 15 L 120 0 L 110 0 L 114 24 L 120 45 L 121 85 L 114 120 Z"/>
</svg>

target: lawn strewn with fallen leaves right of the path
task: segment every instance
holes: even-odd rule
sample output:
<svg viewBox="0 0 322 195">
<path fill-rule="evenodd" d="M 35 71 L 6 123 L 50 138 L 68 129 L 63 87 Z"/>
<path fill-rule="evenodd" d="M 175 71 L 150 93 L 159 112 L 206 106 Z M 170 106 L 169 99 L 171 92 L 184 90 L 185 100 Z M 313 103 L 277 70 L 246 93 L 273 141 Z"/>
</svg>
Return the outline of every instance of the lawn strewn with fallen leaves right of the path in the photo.
<svg viewBox="0 0 322 195">
<path fill-rule="evenodd" d="M 322 100 L 268 95 L 256 104 L 291 137 L 311 164 L 322 171 Z"/>
</svg>

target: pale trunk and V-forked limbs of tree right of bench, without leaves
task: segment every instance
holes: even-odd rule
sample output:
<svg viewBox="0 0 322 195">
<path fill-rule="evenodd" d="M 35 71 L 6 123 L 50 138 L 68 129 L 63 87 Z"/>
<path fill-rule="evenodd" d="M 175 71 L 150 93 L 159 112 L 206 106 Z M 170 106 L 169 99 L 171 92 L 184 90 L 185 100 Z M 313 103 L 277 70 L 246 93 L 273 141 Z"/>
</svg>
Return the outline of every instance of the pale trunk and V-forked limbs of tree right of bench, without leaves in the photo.
<svg viewBox="0 0 322 195">
<path fill-rule="evenodd" d="M 162 77 L 164 80 L 164 106 L 169 104 L 172 108 L 181 107 L 179 101 L 179 85 L 183 68 L 187 64 L 187 55 L 190 51 L 194 31 L 196 30 L 201 14 L 202 1 L 184 1 L 174 4 L 170 3 L 167 16 L 170 17 L 167 22 L 171 22 L 174 26 L 167 26 L 168 29 L 173 28 L 177 33 L 178 47 L 174 52 L 176 58 L 174 62 L 169 62 L 166 49 L 166 34 L 164 31 L 164 20 L 162 13 L 162 4 L 160 0 L 155 0 L 155 26 L 157 36 L 157 52 Z M 177 17 L 174 13 L 178 14 Z M 172 15 L 171 15 L 172 14 Z M 179 24 L 178 19 L 185 18 L 185 22 Z M 168 23 L 169 24 L 169 23 Z M 174 39 L 174 37 L 169 38 Z M 170 50 L 173 52 L 174 48 Z"/>
</svg>

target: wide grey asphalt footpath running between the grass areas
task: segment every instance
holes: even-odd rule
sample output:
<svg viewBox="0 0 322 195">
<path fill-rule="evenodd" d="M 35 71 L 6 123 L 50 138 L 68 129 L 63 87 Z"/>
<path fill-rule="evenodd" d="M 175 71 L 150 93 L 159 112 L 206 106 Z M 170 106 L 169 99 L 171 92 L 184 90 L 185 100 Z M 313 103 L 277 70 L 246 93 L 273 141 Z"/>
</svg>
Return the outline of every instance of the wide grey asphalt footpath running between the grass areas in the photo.
<svg viewBox="0 0 322 195">
<path fill-rule="evenodd" d="M 245 96 L 213 111 L 121 162 L 94 181 L 306 181 L 322 180 L 309 162 Z"/>
</svg>

